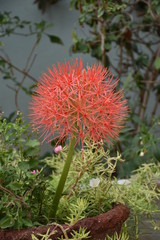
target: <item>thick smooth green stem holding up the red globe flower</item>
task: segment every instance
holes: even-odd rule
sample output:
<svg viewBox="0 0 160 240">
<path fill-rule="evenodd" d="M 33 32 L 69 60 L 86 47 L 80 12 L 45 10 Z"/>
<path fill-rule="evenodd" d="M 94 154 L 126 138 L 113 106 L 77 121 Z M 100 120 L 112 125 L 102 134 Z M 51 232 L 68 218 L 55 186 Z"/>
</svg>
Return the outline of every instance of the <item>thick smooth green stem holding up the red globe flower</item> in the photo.
<svg viewBox="0 0 160 240">
<path fill-rule="evenodd" d="M 55 218 L 55 216 L 56 216 L 56 212 L 57 212 L 57 209 L 58 209 L 58 204 L 59 204 L 60 198 L 62 196 L 64 185 L 65 185 L 65 182 L 66 182 L 66 179 L 67 179 L 67 176 L 68 176 L 69 168 L 70 168 L 72 158 L 73 158 L 75 141 L 76 141 L 75 136 L 73 136 L 73 138 L 70 141 L 67 159 L 66 159 L 66 162 L 64 164 L 63 171 L 62 171 L 59 183 L 58 183 L 58 187 L 56 189 L 56 193 L 55 193 L 55 196 L 54 196 L 54 199 L 53 199 L 52 210 L 51 210 L 51 217 L 52 218 Z"/>
</svg>

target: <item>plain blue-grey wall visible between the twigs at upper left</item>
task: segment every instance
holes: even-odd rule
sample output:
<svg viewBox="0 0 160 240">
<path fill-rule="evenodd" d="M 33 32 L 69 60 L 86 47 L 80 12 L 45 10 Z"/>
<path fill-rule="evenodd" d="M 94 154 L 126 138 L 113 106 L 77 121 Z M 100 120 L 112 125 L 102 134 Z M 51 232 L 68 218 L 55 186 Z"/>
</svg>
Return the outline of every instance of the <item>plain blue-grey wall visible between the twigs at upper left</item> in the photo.
<svg viewBox="0 0 160 240">
<path fill-rule="evenodd" d="M 31 68 L 30 74 L 36 79 L 39 79 L 41 73 L 46 71 L 48 66 L 57 63 L 58 61 L 64 62 L 64 59 L 72 60 L 76 57 L 83 58 L 84 65 L 96 61 L 89 55 L 82 54 L 69 54 L 69 48 L 72 44 L 72 30 L 76 27 L 78 19 L 78 12 L 69 10 L 69 0 L 60 0 L 58 3 L 47 8 L 45 14 L 38 10 L 37 4 L 34 0 L 1 0 L 0 11 L 9 11 L 12 16 L 19 16 L 22 20 L 30 20 L 33 22 L 40 22 L 44 19 L 47 22 L 53 23 L 53 27 L 47 30 L 47 33 L 59 36 L 64 45 L 53 44 L 49 41 L 47 36 L 42 38 L 40 45 L 36 49 L 36 60 Z M 77 24 L 78 26 L 78 24 Z M 79 29 L 83 34 L 83 31 Z M 14 65 L 24 69 L 28 55 L 35 42 L 35 37 L 23 37 L 12 35 L 9 37 L 1 38 L 4 43 L 4 50 L 11 59 Z M 15 72 L 15 76 L 19 81 L 22 79 L 22 74 Z M 25 86 L 31 84 L 29 78 L 25 79 Z M 6 85 L 13 87 L 11 81 L 4 81 L 0 75 L 0 109 L 8 116 L 11 112 L 16 110 L 15 95 L 13 90 L 9 89 Z M 28 102 L 31 97 L 24 94 L 22 91 L 18 96 L 20 110 L 27 116 Z"/>
</svg>

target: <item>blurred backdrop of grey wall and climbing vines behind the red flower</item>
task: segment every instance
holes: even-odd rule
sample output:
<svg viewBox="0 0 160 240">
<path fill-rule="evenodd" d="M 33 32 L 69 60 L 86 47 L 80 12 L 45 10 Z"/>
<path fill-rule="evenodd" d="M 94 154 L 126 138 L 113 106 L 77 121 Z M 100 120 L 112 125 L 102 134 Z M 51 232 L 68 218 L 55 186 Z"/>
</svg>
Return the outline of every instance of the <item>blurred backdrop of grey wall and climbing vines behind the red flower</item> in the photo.
<svg viewBox="0 0 160 240">
<path fill-rule="evenodd" d="M 129 105 L 126 128 L 111 149 L 128 177 L 160 161 L 159 0 L 1 0 L 0 110 L 8 121 L 28 103 L 43 71 L 82 58 L 109 67 Z"/>
</svg>

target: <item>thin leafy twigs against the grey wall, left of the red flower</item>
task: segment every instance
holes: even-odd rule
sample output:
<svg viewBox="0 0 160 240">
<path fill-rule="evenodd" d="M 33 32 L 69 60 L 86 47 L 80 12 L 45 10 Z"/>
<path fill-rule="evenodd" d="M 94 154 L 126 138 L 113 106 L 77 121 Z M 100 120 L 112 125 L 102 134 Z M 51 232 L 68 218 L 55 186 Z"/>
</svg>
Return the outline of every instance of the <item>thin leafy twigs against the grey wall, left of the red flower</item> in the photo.
<svg viewBox="0 0 160 240">
<path fill-rule="evenodd" d="M 7 81 L 7 86 L 15 92 L 15 106 L 17 110 L 20 109 L 18 101 L 19 92 L 23 91 L 27 95 L 31 95 L 34 92 L 37 79 L 29 72 L 35 61 L 35 50 L 42 38 L 47 37 L 51 43 L 63 45 L 62 40 L 58 36 L 47 33 L 48 29 L 51 27 L 52 24 L 44 20 L 33 23 L 31 21 L 21 20 L 18 16 L 12 16 L 10 12 L 0 12 L 1 38 L 16 35 L 17 38 L 22 39 L 22 41 L 24 37 L 32 37 L 34 39 L 33 46 L 28 56 L 26 56 L 26 59 L 24 59 L 25 63 L 23 69 L 16 66 L 15 63 L 11 61 L 3 42 L 0 44 L 2 50 L 0 54 L 0 73 L 3 79 Z M 17 72 L 21 74 L 22 79 L 16 77 Z M 32 81 L 30 86 L 26 86 L 24 83 L 26 78 Z"/>
</svg>

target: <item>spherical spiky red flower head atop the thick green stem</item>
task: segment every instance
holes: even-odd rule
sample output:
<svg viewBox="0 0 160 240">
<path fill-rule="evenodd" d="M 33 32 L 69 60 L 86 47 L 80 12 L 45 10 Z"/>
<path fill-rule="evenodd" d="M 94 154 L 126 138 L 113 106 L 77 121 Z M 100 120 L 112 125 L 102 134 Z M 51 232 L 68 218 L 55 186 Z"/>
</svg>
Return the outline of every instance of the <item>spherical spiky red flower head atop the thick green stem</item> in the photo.
<svg viewBox="0 0 160 240">
<path fill-rule="evenodd" d="M 30 106 L 35 129 L 44 140 L 66 137 L 99 142 L 117 139 L 127 115 L 117 81 L 101 64 L 83 69 L 82 61 L 48 69 L 38 83 Z"/>
</svg>

